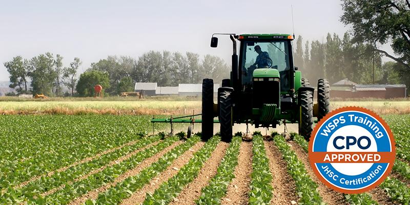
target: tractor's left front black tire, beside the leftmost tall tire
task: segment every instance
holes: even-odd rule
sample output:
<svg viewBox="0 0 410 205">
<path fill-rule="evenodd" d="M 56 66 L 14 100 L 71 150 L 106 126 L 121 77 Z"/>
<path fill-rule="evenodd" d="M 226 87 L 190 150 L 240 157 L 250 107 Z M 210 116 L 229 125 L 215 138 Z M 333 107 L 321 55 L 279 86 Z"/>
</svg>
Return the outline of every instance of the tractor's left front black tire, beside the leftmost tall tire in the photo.
<svg viewBox="0 0 410 205">
<path fill-rule="evenodd" d="M 220 134 L 226 142 L 232 140 L 232 92 L 230 87 L 218 89 Z"/>
</svg>

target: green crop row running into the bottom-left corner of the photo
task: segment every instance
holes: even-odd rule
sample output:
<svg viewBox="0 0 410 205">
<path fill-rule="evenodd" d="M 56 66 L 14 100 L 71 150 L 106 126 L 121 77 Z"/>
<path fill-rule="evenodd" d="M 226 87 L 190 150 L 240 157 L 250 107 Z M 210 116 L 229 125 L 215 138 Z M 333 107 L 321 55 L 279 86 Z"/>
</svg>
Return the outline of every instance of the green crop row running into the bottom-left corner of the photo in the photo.
<svg viewBox="0 0 410 205">
<path fill-rule="evenodd" d="M 70 167 L 65 171 L 56 172 L 51 176 L 43 176 L 37 180 L 29 182 L 23 188 L 16 190 L 12 190 L 11 188 L 9 188 L 9 191 L 4 193 L 0 197 L 0 200 L 13 201 L 16 198 L 18 198 L 18 200 L 24 200 L 26 197 L 32 198 L 36 194 L 50 191 L 54 188 L 64 185 L 69 181 L 84 176 L 92 170 L 106 166 L 113 160 L 118 159 L 119 157 L 124 156 L 126 154 L 129 154 L 137 149 L 144 148 L 152 142 L 159 140 L 160 138 L 161 137 L 159 135 L 143 137 L 133 145 L 122 147 L 113 152 L 96 157 L 91 161 L 79 163 L 78 165 Z"/>
</svg>

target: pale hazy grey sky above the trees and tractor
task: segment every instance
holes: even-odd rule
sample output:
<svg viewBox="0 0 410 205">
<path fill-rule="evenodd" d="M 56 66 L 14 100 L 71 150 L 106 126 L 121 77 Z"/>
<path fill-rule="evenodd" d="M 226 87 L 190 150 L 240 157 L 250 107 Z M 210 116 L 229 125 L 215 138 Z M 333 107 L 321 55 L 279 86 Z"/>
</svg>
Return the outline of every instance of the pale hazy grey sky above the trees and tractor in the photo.
<svg viewBox="0 0 410 205">
<path fill-rule="evenodd" d="M 289 2 L 289 3 L 288 3 Z M 232 44 L 215 32 L 295 33 L 325 40 L 346 31 L 339 0 L 326 1 L 0 1 L 0 80 L 16 55 L 51 52 L 83 61 L 81 71 L 107 55 L 138 57 L 149 50 L 213 54 L 229 60 Z"/>
</svg>

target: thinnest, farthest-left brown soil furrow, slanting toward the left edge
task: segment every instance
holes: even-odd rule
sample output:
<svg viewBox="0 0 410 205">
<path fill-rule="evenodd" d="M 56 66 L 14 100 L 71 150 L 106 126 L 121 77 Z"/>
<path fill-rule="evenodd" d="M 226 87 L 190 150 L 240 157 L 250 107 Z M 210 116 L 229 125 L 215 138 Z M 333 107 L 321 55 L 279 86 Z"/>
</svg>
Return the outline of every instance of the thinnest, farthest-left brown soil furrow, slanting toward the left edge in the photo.
<svg viewBox="0 0 410 205">
<path fill-rule="evenodd" d="M 30 183 L 30 182 L 32 182 L 32 181 L 35 181 L 35 180 L 41 178 L 42 176 L 51 176 L 51 175 L 53 175 L 53 174 L 56 173 L 56 172 L 64 172 L 64 171 L 66 171 L 67 169 L 69 169 L 69 168 L 71 168 L 71 167 L 74 167 L 74 166 L 76 166 L 76 165 L 79 165 L 80 163 L 85 163 L 85 162 L 91 161 L 91 160 L 93 160 L 93 159 L 95 159 L 95 158 L 97 158 L 97 157 L 100 157 L 101 155 L 105 155 L 105 154 L 108 154 L 108 153 L 110 153 L 110 152 L 114 152 L 114 151 L 116 151 L 116 150 L 118 150 L 118 149 L 121 149 L 121 148 L 123 148 L 123 147 L 125 147 L 125 146 L 134 145 L 137 141 L 139 141 L 139 139 L 136 139 L 136 140 L 127 142 L 126 144 L 121 145 L 121 146 L 119 146 L 119 147 L 115 147 L 115 148 L 112 148 L 112 149 L 109 149 L 109 150 L 100 152 L 100 153 L 98 153 L 98 154 L 96 154 L 96 155 L 94 155 L 94 156 L 92 156 L 92 157 L 87 157 L 87 158 L 81 159 L 81 160 L 79 160 L 79 161 L 76 161 L 76 162 L 72 163 L 72 164 L 69 165 L 69 166 L 62 167 L 62 168 L 59 168 L 59 169 L 54 170 L 54 171 L 50 171 L 50 172 L 48 172 L 47 174 L 39 175 L 39 176 L 34 176 L 34 177 L 30 178 L 29 180 L 24 181 L 24 182 L 22 182 L 22 183 L 19 183 L 19 184 L 16 185 L 16 186 L 14 186 L 13 189 L 22 188 L 22 187 L 28 185 L 28 183 Z M 3 192 L 3 191 L 5 191 L 5 190 L 2 190 L 2 192 Z"/>
</svg>

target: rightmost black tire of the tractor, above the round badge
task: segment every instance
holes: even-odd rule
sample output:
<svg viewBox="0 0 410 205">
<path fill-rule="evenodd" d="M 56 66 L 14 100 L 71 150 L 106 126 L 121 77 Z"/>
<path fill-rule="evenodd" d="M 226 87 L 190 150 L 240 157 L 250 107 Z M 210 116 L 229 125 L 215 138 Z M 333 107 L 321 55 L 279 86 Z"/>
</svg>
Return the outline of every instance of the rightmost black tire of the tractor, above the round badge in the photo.
<svg viewBox="0 0 410 205">
<path fill-rule="evenodd" d="M 319 121 L 330 112 L 330 85 L 326 78 L 317 81 L 317 104 Z"/>
</svg>

